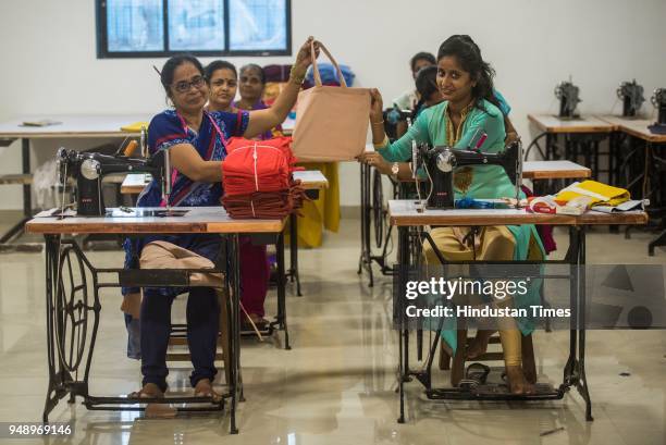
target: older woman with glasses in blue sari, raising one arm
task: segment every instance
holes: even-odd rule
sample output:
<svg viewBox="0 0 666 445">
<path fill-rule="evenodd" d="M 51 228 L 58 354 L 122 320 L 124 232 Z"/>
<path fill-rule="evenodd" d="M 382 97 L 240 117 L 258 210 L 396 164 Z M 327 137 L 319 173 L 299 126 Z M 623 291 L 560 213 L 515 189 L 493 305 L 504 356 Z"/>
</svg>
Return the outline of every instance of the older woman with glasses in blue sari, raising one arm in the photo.
<svg viewBox="0 0 666 445">
<path fill-rule="evenodd" d="M 311 63 L 312 37 L 298 51 L 287 87 L 274 106 L 257 111 L 205 111 L 209 86 L 203 67 L 190 55 L 166 61 L 160 79 L 173 109 L 157 114 L 148 127 L 151 153 L 169 149 L 174 181 L 169 205 L 173 207 L 220 206 L 222 197 L 222 160 L 226 140 L 232 136 L 252 138 L 285 120 L 296 102 L 306 71 Z M 319 42 L 314 42 L 319 52 Z M 138 207 L 158 207 L 159 185 L 153 181 L 138 198 Z M 162 203 L 163 205 L 163 203 Z M 213 262 L 219 261 L 221 238 L 218 235 L 152 236 L 140 242 L 125 242 L 126 267 L 136 268 L 143 247 L 152 240 L 165 240 L 188 249 Z M 128 291 L 128 289 L 125 289 Z M 194 371 L 189 378 L 196 396 L 219 398 L 212 381 L 219 304 L 212 287 L 189 289 L 146 288 L 140 309 L 140 355 L 143 387 L 131 397 L 162 397 L 166 391 L 166 346 L 171 330 L 171 305 L 176 294 L 189 291 L 187 299 L 187 341 Z"/>
</svg>

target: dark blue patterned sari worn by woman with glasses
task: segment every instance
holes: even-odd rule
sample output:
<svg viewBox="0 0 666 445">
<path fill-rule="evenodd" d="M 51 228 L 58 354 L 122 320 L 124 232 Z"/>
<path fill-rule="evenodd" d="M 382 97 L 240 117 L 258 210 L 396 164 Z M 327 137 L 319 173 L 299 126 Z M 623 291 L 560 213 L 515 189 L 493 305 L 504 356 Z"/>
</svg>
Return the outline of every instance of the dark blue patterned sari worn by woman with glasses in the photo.
<svg viewBox="0 0 666 445">
<path fill-rule="evenodd" d="M 148 126 L 148 149 L 150 154 L 180 144 L 192 145 L 201 159 L 207 161 L 221 161 L 226 157 L 225 144 L 230 137 L 242 136 L 249 122 L 249 113 L 238 111 L 203 112 L 203 119 L 199 132 L 187 126 L 182 116 L 174 110 L 166 110 L 157 114 Z M 222 198 L 222 183 L 194 182 L 184 174 L 173 171 L 172 193 L 169 203 L 172 207 L 213 207 L 220 206 Z M 164 206 L 160 185 L 152 181 L 139 195 L 137 207 Z M 149 235 L 140 238 L 126 238 L 123 247 L 125 249 L 125 269 L 138 269 L 138 258 L 144 246 L 153 240 L 165 240 L 185 249 L 201 255 L 213 262 L 218 262 L 221 250 L 221 238 L 215 234 L 210 235 Z M 187 292 L 186 288 L 162 287 L 147 289 L 159 293 L 164 297 L 175 296 Z M 138 287 L 123 287 L 123 295 L 139 292 Z M 138 320 L 125 314 L 125 324 L 130 333 L 127 344 L 127 356 L 139 358 L 138 350 Z"/>
</svg>

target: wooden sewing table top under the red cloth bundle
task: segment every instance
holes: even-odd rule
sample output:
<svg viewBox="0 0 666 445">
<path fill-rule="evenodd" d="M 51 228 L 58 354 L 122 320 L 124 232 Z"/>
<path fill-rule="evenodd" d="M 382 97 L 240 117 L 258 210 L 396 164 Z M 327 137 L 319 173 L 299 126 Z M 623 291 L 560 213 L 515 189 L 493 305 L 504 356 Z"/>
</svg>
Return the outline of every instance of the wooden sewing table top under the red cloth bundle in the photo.
<svg viewBox="0 0 666 445">
<path fill-rule="evenodd" d="M 144 208 L 141 210 L 164 210 Z M 183 217 L 72 217 L 33 218 L 25 224 L 28 233 L 90 234 L 90 233 L 280 233 L 285 220 L 233 220 L 223 207 L 178 207 L 188 210 Z"/>
</svg>

